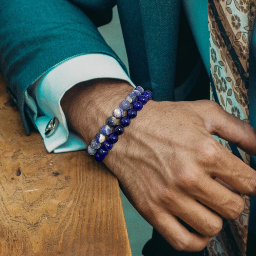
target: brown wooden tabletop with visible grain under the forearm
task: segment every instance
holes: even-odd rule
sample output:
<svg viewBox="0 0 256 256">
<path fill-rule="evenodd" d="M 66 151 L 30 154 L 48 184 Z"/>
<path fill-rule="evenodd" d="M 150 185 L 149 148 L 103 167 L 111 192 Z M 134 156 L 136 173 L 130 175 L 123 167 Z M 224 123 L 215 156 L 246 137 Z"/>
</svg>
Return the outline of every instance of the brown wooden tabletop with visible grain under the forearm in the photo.
<svg viewBox="0 0 256 256">
<path fill-rule="evenodd" d="M 118 181 L 85 151 L 46 152 L 0 77 L 0 256 L 131 255 Z"/>
</svg>

